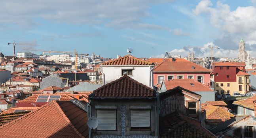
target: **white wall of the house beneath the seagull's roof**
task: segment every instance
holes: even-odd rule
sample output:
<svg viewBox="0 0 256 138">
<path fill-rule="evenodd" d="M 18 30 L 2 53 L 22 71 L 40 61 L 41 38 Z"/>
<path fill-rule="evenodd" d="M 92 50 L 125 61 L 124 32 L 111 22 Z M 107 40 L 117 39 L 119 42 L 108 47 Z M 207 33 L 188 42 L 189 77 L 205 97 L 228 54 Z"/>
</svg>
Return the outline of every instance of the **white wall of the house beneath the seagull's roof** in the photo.
<svg viewBox="0 0 256 138">
<path fill-rule="evenodd" d="M 122 75 L 122 69 L 133 68 L 133 75 L 130 76 L 138 82 L 152 87 L 153 86 L 153 67 L 152 65 L 138 65 L 138 66 L 101 66 L 102 67 L 102 81 L 103 85 L 108 84 L 114 80 L 117 80 Z M 150 71 L 152 69 L 152 71 Z"/>
</svg>

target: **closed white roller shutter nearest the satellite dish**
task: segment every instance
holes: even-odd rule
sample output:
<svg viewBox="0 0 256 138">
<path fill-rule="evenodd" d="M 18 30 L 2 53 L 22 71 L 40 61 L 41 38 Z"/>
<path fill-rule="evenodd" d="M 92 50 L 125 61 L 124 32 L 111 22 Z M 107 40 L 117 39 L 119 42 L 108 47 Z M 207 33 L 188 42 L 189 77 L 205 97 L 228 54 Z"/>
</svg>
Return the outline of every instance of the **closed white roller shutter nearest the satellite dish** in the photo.
<svg viewBox="0 0 256 138">
<path fill-rule="evenodd" d="M 98 130 L 116 130 L 116 110 L 96 110 Z"/>
</svg>

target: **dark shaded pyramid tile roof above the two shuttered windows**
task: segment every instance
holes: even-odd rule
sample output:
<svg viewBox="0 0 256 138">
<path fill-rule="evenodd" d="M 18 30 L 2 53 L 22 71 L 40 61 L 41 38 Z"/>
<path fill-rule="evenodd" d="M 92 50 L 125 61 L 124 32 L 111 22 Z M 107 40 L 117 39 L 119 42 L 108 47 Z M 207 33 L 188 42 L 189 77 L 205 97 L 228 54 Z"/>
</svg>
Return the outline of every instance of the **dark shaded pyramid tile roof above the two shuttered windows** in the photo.
<svg viewBox="0 0 256 138">
<path fill-rule="evenodd" d="M 133 98 L 133 97 L 156 97 L 156 91 L 143 85 L 127 75 L 114 80 L 97 90 L 94 90 L 89 95 L 90 98 L 105 97 L 105 98 Z"/>
</svg>

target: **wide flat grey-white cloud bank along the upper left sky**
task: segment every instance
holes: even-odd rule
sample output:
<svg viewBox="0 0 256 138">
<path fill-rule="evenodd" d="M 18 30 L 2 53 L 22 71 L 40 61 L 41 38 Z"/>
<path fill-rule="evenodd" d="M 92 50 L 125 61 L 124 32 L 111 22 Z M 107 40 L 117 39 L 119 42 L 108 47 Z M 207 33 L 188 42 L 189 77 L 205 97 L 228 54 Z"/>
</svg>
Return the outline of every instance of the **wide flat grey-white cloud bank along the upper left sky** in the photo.
<svg viewBox="0 0 256 138">
<path fill-rule="evenodd" d="M 161 30 L 141 21 L 154 4 L 173 0 L 2 0 L 0 24 L 30 26 L 35 19 L 66 24 L 104 24 L 113 28 Z"/>
</svg>

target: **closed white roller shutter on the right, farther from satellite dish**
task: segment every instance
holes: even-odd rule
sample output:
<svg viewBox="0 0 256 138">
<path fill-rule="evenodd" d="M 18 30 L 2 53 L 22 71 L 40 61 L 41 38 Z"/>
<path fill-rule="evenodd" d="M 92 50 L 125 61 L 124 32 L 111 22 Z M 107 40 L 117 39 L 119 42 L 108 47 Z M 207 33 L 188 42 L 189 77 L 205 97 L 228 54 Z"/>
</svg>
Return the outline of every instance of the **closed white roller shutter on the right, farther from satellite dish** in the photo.
<svg viewBox="0 0 256 138">
<path fill-rule="evenodd" d="M 131 110 L 131 127 L 150 127 L 150 110 Z"/>
</svg>

